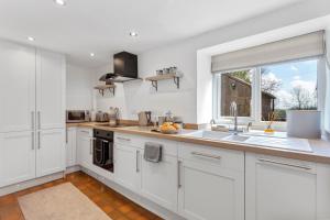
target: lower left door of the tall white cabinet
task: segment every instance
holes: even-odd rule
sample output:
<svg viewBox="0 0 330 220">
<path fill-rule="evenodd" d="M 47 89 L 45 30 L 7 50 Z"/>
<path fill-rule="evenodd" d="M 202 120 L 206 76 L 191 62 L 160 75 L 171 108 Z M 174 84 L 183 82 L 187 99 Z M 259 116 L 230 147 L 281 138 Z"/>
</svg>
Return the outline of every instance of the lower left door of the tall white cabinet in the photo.
<svg viewBox="0 0 330 220">
<path fill-rule="evenodd" d="M 0 134 L 0 187 L 35 178 L 33 132 Z"/>
</svg>

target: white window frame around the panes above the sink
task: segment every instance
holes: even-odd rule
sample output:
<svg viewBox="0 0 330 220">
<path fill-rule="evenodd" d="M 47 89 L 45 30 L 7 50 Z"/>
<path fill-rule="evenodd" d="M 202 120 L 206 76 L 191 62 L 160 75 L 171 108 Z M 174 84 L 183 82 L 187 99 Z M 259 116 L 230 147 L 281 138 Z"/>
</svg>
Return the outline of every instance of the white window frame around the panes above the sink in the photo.
<svg viewBox="0 0 330 220">
<path fill-rule="evenodd" d="M 293 62 L 302 62 L 302 61 L 310 61 L 317 59 L 317 108 L 320 111 L 323 111 L 324 108 L 324 97 L 326 97 L 326 61 L 323 57 L 312 57 L 308 59 L 297 59 L 297 61 L 289 61 L 288 63 Z M 284 63 L 280 63 L 284 64 Z M 253 127 L 256 129 L 264 129 L 266 127 L 267 121 L 262 121 L 262 97 L 261 97 L 261 69 L 262 67 L 251 67 L 244 69 L 233 69 L 231 72 L 238 70 L 246 70 L 253 69 L 254 73 L 252 74 L 252 96 L 251 96 L 251 117 L 239 117 L 240 124 L 248 124 L 249 122 L 253 123 Z M 227 72 L 230 73 L 230 72 Z M 231 123 L 232 117 L 222 117 L 221 116 L 221 74 L 226 73 L 216 73 L 213 75 L 213 119 L 217 123 Z M 275 130 L 285 131 L 286 130 L 286 122 L 276 121 L 273 123 Z"/>
</svg>

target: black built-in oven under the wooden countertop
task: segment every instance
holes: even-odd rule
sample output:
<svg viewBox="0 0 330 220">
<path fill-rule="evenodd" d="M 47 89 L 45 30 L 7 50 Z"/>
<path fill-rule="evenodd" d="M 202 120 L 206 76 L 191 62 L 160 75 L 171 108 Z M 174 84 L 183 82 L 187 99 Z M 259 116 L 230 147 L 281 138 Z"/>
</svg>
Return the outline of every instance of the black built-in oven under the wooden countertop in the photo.
<svg viewBox="0 0 330 220">
<path fill-rule="evenodd" d="M 113 132 L 94 130 L 92 163 L 113 173 Z"/>
</svg>

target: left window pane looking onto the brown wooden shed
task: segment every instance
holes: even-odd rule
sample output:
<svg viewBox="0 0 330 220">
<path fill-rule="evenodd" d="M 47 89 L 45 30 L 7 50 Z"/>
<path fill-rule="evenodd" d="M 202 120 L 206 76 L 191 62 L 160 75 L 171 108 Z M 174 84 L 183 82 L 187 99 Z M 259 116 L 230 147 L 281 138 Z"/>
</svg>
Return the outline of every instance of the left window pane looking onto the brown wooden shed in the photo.
<svg viewBox="0 0 330 220">
<path fill-rule="evenodd" d="M 230 105 L 235 101 L 239 117 L 251 117 L 252 70 L 221 75 L 221 116 L 230 116 Z"/>
</svg>

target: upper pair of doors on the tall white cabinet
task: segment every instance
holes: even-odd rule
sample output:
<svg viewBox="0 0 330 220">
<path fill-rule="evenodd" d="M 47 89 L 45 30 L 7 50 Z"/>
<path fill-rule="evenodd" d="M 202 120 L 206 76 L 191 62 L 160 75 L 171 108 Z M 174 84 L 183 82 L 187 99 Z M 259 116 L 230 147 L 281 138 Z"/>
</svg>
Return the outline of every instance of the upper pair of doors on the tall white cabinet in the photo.
<svg viewBox="0 0 330 220">
<path fill-rule="evenodd" d="M 65 56 L 0 41 L 0 132 L 65 128 Z"/>
</svg>

